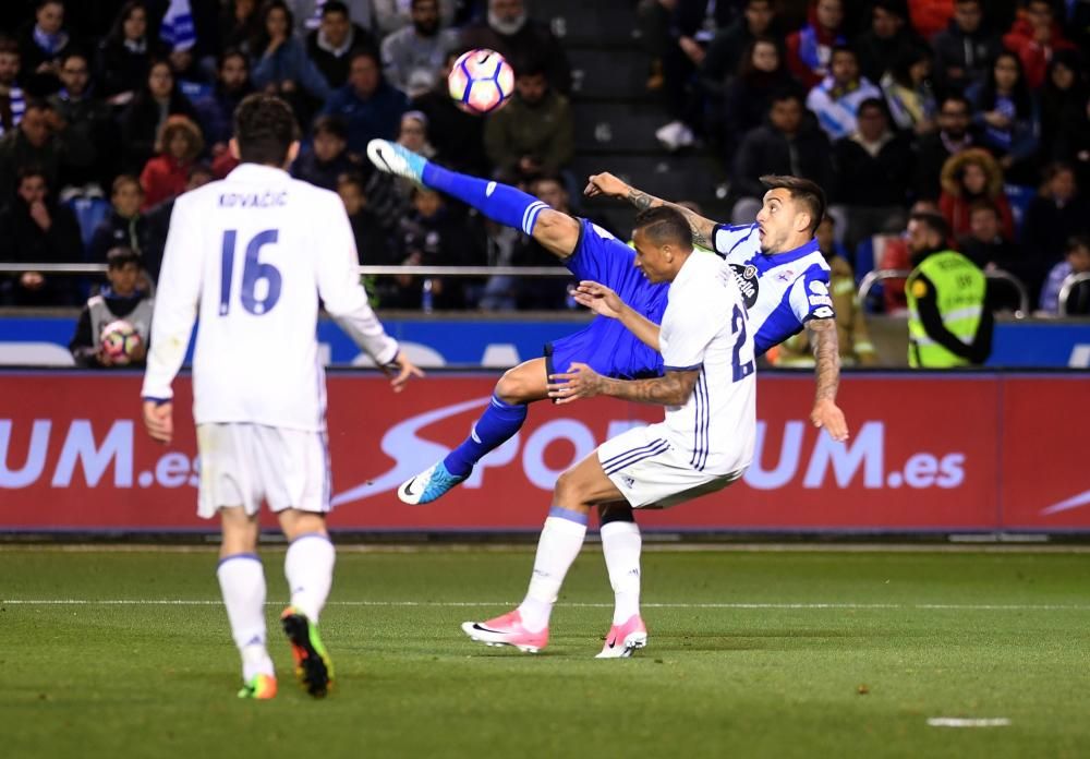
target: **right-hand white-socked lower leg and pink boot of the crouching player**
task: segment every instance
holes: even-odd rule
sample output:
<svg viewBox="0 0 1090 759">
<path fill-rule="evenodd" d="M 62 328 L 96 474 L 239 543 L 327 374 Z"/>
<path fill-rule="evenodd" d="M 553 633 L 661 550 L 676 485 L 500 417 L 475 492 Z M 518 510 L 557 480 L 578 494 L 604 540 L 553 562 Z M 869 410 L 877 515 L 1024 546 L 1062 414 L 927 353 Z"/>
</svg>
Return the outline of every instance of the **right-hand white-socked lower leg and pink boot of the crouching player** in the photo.
<svg viewBox="0 0 1090 759">
<path fill-rule="evenodd" d="M 628 504 L 598 509 L 602 553 L 614 589 L 613 626 L 598 659 L 622 659 L 647 644 L 647 627 L 640 616 L 640 527 Z"/>
</svg>

